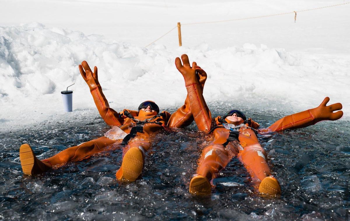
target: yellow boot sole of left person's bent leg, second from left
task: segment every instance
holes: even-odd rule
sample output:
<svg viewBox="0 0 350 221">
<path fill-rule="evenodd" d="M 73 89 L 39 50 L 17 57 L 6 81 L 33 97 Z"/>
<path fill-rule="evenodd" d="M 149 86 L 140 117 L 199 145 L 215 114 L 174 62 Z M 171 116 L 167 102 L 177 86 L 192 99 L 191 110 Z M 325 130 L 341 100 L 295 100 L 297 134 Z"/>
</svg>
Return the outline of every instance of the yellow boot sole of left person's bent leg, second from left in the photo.
<svg viewBox="0 0 350 221">
<path fill-rule="evenodd" d="M 137 147 L 132 147 L 125 153 L 123 163 L 116 173 L 120 181 L 135 181 L 141 174 L 144 167 L 143 152 Z"/>
</svg>

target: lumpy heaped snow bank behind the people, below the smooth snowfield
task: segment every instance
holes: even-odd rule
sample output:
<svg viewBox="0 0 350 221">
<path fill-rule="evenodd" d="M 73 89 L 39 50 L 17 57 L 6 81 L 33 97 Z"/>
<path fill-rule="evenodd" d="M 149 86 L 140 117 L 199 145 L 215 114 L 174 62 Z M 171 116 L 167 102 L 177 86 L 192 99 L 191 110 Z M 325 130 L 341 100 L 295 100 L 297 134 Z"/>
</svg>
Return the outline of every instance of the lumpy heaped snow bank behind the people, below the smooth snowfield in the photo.
<svg viewBox="0 0 350 221">
<path fill-rule="evenodd" d="M 98 67 L 104 93 L 117 111 L 135 109 L 146 99 L 164 109 L 179 106 L 186 89 L 174 60 L 184 53 L 208 73 L 208 103 L 249 103 L 292 113 L 313 108 L 329 96 L 330 103 L 343 103 L 349 116 L 349 55 L 290 52 L 250 43 L 225 49 L 205 43 L 177 49 L 154 44 L 146 49 L 31 23 L 0 27 L 1 127 L 98 115 L 79 74 L 78 64 L 84 60 Z M 72 83 L 73 113 L 64 113 L 60 92 Z"/>
</svg>

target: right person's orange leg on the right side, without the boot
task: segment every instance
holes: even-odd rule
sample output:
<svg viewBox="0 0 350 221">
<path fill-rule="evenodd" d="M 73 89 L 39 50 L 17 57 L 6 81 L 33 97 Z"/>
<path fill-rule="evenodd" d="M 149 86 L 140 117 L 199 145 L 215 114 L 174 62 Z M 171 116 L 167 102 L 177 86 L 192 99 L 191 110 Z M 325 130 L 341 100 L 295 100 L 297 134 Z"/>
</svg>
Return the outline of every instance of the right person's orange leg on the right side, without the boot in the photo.
<svg viewBox="0 0 350 221">
<path fill-rule="evenodd" d="M 238 158 L 251 174 L 254 185 L 259 185 L 265 177 L 270 175 L 266 153 L 260 144 L 244 147 L 244 150 L 239 151 Z"/>
</svg>

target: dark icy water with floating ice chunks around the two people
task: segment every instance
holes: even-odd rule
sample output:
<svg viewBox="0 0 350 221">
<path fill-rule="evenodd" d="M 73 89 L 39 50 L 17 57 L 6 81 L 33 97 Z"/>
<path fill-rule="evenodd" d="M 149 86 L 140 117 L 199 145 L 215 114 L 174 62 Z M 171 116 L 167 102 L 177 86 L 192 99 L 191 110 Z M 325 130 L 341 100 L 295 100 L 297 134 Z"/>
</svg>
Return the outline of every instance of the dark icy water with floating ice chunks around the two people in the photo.
<svg viewBox="0 0 350 221">
<path fill-rule="evenodd" d="M 211 109 L 217 116 L 229 108 L 216 104 Z M 285 114 L 247 110 L 247 116 L 261 127 Z M 211 196 L 191 196 L 189 181 L 205 141 L 205 135 L 194 125 L 159 133 L 147 152 L 142 178 L 130 184 L 115 180 L 122 160 L 118 145 L 109 153 L 43 175 L 22 173 L 21 144 L 29 143 L 40 159 L 47 158 L 103 136 L 110 127 L 97 116 L 1 132 L 0 220 L 345 220 L 349 123 L 320 122 L 259 136 L 272 173 L 280 181 L 280 199 L 257 195 L 237 159 L 214 180 L 216 188 Z"/>
</svg>

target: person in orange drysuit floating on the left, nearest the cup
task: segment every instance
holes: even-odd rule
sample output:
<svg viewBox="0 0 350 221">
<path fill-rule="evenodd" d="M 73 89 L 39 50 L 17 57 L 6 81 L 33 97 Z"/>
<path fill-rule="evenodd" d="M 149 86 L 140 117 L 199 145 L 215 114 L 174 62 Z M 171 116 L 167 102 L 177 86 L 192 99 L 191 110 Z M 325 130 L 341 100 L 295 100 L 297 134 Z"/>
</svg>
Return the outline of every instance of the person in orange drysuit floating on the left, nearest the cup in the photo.
<svg viewBox="0 0 350 221">
<path fill-rule="evenodd" d="M 201 70 L 198 66 L 195 68 Z M 94 67 L 92 72 L 87 62 L 83 61 L 79 65 L 79 70 L 90 88 L 98 112 L 104 121 L 108 125 L 119 127 L 119 129 L 117 128 L 119 132 L 127 133 L 122 141 L 126 148 L 124 149 L 122 165 L 116 173 L 118 180 L 134 181 L 139 177 L 144 166 L 145 151 L 151 146 L 150 136 L 152 134 L 163 130 L 164 127 L 185 127 L 193 122 L 194 117 L 189 105 L 189 95 L 187 95 L 185 104 L 173 114 L 166 111 L 159 113 L 158 105 L 152 101 L 141 103 L 138 111 L 125 109 L 118 113 L 109 107 L 102 92 L 98 82 L 97 67 Z M 203 89 L 207 76 L 198 74 L 197 78 L 201 83 L 201 89 Z M 43 173 L 50 168 L 90 158 L 93 154 L 108 150 L 108 147 L 116 142 L 120 142 L 120 140 L 104 136 L 70 147 L 44 160 L 38 160 L 29 144 L 23 144 L 20 147 L 22 170 L 28 175 Z"/>
</svg>

